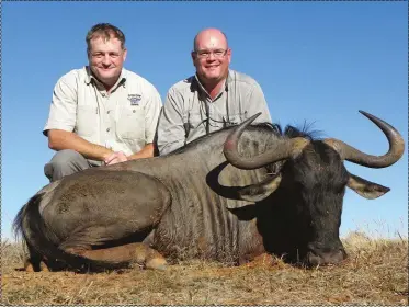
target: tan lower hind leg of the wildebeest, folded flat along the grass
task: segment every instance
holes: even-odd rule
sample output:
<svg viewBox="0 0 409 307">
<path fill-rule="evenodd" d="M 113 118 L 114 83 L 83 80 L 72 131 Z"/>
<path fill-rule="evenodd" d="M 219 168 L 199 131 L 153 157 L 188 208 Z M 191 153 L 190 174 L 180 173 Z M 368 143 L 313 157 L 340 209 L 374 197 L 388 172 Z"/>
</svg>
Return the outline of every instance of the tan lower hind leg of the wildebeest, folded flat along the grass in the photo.
<svg viewBox="0 0 409 307">
<path fill-rule="evenodd" d="M 111 263 L 128 262 L 130 265 L 136 263 L 146 269 L 164 270 L 168 264 L 158 251 L 141 242 L 95 250 L 69 248 L 66 251 L 95 261 Z"/>
</svg>

